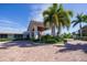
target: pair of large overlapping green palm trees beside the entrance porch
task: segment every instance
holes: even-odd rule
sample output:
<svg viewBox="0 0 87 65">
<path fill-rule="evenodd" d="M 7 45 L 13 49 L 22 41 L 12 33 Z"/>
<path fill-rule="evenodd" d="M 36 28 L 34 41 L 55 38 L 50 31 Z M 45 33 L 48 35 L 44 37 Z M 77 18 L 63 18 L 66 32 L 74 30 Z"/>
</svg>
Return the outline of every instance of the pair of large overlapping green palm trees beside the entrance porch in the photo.
<svg viewBox="0 0 87 65">
<path fill-rule="evenodd" d="M 44 25 L 52 29 L 53 35 L 55 35 L 55 28 L 57 33 L 61 33 L 62 28 L 68 28 L 70 25 L 69 17 L 73 17 L 72 11 L 65 11 L 62 4 L 53 3 L 47 10 L 43 12 Z"/>
</svg>

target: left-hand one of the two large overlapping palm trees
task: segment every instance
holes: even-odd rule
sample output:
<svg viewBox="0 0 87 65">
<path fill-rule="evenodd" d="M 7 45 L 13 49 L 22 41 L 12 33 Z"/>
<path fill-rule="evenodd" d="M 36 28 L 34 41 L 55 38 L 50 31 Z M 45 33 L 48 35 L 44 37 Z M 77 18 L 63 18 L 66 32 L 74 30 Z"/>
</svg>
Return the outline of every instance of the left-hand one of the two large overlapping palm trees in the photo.
<svg viewBox="0 0 87 65">
<path fill-rule="evenodd" d="M 52 35 L 55 35 L 55 25 L 57 22 L 54 21 L 54 17 L 57 14 L 57 4 L 54 3 L 52 7 L 43 12 L 44 25 L 52 29 Z"/>
</svg>

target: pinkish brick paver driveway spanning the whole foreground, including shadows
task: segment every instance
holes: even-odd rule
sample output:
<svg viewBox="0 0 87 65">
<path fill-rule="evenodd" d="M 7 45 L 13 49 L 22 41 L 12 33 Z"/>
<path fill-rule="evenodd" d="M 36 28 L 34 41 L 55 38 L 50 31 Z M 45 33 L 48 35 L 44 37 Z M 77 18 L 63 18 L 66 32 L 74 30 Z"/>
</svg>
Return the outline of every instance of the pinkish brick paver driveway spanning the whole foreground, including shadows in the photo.
<svg viewBox="0 0 87 65">
<path fill-rule="evenodd" d="M 72 42 L 73 43 L 73 42 Z M 77 43 L 77 42 L 74 42 Z M 81 43 L 81 42 L 80 42 Z M 10 62 L 59 62 L 59 61 L 86 61 L 87 43 L 67 44 L 56 46 L 53 44 L 33 45 L 31 42 L 10 42 L 3 44 L 7 48 L 0 48 L 0 61 Z"/>
</svg>

